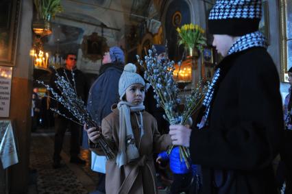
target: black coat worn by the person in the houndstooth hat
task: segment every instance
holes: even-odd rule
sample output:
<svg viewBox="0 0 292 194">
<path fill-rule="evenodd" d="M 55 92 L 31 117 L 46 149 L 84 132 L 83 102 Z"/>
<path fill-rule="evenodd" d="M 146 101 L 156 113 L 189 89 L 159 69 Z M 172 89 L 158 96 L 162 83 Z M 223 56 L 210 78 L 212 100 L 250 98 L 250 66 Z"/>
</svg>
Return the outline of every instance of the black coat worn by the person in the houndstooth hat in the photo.
<svg viewBox="0 0 292 194">
<path fill-rule="evenodd" d="M 283 129 L 278 72 L 266 49 L 232 53 L 211 102 L 209 125 L 191 133 L 203 193 L 277 193 L 272 161 Z"/>
</svg>

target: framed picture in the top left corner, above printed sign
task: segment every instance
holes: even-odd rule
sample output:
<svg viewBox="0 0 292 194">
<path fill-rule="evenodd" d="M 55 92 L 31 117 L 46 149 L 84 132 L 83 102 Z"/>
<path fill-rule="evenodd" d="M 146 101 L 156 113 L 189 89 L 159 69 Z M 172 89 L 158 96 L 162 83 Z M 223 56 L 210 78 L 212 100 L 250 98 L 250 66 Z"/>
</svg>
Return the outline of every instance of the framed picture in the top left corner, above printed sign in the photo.
<svg viewBox="0 0 292 194">
<path fill-rule="evenodd" d="M 14 66 L 20 0 L 0 1 L 0 65 Z"/>
</svg>

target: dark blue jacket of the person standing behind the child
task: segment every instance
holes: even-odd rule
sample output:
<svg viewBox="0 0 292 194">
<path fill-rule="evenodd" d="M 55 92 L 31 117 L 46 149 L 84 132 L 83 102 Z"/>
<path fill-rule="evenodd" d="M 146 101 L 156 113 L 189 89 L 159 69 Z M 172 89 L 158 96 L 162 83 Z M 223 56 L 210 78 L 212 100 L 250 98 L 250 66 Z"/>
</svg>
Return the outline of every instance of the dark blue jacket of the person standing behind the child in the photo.
<svg viewBox="0 0 292 194">
<path fill-rule="evenodd" d="M 98 125 L 108 116 L 112 104 L 119 102 L 119 79 L 123 73 L 123 64 L 104 64 L 99 77 L 90 88 L 87 107 L 90 116 Z M 88 148 L 88 135 L 83 133 L 82 147 Z"/>
</svg>

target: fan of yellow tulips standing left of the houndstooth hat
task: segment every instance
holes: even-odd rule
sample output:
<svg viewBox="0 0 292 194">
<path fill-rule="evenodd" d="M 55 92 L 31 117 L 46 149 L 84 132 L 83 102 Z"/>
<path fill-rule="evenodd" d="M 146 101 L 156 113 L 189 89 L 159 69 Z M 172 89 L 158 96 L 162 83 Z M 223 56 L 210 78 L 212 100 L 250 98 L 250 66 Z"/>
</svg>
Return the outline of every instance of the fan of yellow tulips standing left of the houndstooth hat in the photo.
<svg viewBox="0 0 292 194">
<path fill-rule="evenodd" d="M 176 31 L 179 36 L 178 45 L 184 45 L 184 48 L 188 49 L 191 54 L 194 48 L 201 51 L 202 46 L 206 45 L 206 38 L 203 36 L 205 31 L 199 25 L 185 24 L 182 27 L 178 27 Z"/>
</svg>

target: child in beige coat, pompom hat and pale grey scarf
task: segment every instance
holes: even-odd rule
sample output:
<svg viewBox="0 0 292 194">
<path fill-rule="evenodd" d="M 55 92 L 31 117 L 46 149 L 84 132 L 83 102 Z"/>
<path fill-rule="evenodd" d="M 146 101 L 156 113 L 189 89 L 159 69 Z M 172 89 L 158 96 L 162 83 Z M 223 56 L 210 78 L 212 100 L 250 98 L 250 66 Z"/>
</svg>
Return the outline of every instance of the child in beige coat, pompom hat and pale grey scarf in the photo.
<svg viewBox="0 0 292 194">
<path fill-rule="evenodd" d="M 121 101 L 112 106 L 104 118 L 101 131 L 108 143 L 117 149 L 117 157 L 106 164 L 106 193 L 157 193 L 152 154 L 166 150 L 169 134 L 160 136 L 156 119 L 143 106 L 146 84 L 136 73 L 134 64 L 127 64 L 119 80 Z M 96 128 L 87 130 L 97 143 Z M 102 154 L 101 149 L 93 149 Z"/>
</svg>

